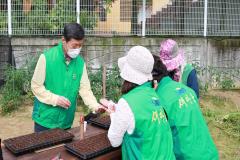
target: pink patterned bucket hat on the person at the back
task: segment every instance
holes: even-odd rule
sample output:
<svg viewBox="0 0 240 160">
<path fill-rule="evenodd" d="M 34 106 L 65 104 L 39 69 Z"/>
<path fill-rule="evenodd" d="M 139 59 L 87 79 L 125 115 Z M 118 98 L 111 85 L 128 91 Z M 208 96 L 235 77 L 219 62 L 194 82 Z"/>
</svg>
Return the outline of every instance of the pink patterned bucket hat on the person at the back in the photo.
<svg viewBox="0 0 240 160">
<path fill-rule="evenodd" d="M 167 70 L 172 71 L 184 63 L 184 51 L 178 48 L 176 41 L 168 39 L 160 45 L 160 59 Z"/>
</svg>

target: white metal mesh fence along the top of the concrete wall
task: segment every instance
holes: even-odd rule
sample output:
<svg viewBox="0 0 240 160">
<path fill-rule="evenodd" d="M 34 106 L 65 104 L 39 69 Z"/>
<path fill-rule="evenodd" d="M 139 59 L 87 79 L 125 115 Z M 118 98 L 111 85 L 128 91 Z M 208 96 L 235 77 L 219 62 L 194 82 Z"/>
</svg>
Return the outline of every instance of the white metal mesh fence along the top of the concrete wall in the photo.
<svg viewBox="0 0 240 160">
<path fill-rule="evenodd" d="M 1 0 L 0 35 L 240 36 L 239 0 Z"/>
</svg>

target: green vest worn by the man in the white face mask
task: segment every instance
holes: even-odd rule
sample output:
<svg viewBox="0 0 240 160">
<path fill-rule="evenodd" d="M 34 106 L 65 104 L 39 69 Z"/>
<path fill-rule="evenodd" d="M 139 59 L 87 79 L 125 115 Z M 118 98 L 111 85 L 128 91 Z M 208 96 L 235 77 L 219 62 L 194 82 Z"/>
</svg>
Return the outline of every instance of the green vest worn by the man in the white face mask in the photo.
<svg viewBox="0 0 240 160">
<path fill-rule="evenodd" d="M 45 88 L 69 99 L 71 106 L 68 109 L 54 107 L 40 102 L 35 97 L 32 118 L 46 128 L 70 128 L 74 120 L 84 60 L 78 56 L 67 65 L 62 43 L 45 51 L 44 56 L 46 59 Z"/>
</svg>

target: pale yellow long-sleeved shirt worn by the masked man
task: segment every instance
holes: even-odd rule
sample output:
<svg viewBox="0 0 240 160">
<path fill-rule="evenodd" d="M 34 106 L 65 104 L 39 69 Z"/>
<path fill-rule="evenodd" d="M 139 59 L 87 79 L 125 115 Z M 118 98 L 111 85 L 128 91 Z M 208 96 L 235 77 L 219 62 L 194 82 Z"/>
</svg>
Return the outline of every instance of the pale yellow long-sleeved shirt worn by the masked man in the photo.
<svg viewBox="0 0 240 160">
<path fill-rule="evenodd" d="M 66 63 L 68 64 L 67 61 Z M 44 86 L 45 77 L 46 77 L 46 59 L 45 56 L 42 54 L 39 57 L 31 80 L 31 89 L 33 94 L 37 97 L 37 99 L 40 102 L 56 106 L 59 95 L 56 95 L 45 88 Z M 80 81 L 79 95 L 82 97 L 84 103 L 90 109 L 97 110 L 99 104 L 97 103 L 97 100 L 92 93 L 85 64 L 83 68 L 82 78 Z"/>
</svg>

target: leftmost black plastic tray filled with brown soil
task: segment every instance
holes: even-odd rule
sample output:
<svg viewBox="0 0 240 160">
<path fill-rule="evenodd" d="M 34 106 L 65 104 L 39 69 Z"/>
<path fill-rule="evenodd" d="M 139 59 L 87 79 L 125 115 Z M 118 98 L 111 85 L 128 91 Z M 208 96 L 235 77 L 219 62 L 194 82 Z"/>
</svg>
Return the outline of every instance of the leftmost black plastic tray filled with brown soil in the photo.
<svg viewBox="0 0 240 160">
<path fill-rule="evenodd" d="M 62 129 L 51 129 L 32 133 L 3 141 L 3 144 L 15 155 L 33 152 L 60 143 L 70 142 L 73 134 Z"/>
</svg>

